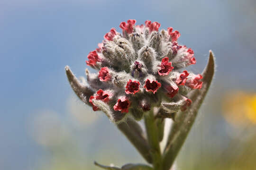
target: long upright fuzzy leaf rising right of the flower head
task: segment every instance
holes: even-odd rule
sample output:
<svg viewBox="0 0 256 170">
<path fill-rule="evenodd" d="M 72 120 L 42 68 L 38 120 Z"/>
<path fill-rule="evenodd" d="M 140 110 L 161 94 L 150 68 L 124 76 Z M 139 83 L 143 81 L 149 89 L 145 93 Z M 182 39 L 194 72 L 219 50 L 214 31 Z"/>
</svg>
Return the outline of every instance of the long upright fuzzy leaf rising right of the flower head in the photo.
<svg viewBox="0 0 256 170">
<path fill-rule="evenodd" d="M 184 112 L 179 111 L 177 113 L 176 119 L 173 126 L 171 127 L 168 141 L 165 146 L 164 151 L 164 170 L 169 170 L 176 156 L 178 155 L 192 125 L 197 116 L 197 112 L 201 106 L 201 103 L 204 100 L 204 97 L 210 87 L 211 80 L 214 75 L 215 64 L 214 56 L 212 51 L 210 51 L 210 56 L 208 64 L 204 71 L 202 72 L 203 76 L 203 85 L 201 90 L 192 90 L 187 97 L 192 100 L 191 106 Z"/>
</svg>

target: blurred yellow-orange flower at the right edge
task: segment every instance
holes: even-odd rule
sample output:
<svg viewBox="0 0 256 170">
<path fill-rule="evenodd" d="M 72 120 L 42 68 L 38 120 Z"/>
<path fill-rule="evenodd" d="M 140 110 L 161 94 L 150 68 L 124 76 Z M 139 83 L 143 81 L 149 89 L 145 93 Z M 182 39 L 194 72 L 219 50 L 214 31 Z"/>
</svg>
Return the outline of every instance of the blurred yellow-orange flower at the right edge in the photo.
<svg viewBox="0 0 256 170">
<path fill-rule="evenodd" d="M 222 102 L 224 118 L 232 125 L 256 124 L 256 93 L 232 91 Z"/>
</svg>

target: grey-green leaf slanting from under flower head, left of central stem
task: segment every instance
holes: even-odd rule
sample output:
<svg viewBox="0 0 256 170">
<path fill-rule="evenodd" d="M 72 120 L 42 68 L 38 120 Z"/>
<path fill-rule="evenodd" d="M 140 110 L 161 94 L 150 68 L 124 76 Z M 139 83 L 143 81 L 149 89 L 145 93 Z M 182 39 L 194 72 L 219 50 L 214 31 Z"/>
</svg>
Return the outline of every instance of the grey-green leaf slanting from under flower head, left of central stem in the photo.
<svg viewBox="0 0 256 170">
<path fill-rule="evenodd" d="M 150 147 L 140 125 L 133 119 L 128 118 L 126 122 L 119 123 L 117 127 L 136 147 L 141 156 L 143 156 L 148 163 L 152 163 Z"/>
</svg>

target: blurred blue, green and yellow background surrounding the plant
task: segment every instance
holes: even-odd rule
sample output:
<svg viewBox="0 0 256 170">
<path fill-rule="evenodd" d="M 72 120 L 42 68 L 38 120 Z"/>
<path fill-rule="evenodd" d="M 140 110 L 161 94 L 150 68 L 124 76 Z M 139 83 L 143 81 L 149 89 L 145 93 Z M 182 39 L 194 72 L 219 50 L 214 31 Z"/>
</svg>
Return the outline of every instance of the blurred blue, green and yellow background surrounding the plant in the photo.
<svg viewBox="0 0 256 170">
<path fill-rule="evenodd" d="M 181 32 L 200 73 L 217 72 L 178 170 L 256 170 L 255 0 L 0 0 L 0 170 L 98 170 L 144 162 L 100 111 L 73 94 L 111 27 L 149 19 Z M 90 68 L 89 68 L 90 69 Z"/>
</svg>

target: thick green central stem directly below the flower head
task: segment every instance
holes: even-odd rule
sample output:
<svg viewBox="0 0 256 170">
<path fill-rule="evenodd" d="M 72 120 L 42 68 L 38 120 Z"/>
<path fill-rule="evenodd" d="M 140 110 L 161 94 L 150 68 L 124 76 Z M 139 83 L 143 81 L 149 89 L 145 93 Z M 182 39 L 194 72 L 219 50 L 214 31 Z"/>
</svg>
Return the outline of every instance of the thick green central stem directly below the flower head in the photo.
<svg viewBox="0 0 256 170">
<path fill-rule="evenodd" d="M 151 148 L 151 154 L 153 158 L 153 166 L 154 170 L 162 170 L 162 155 L 160 151 L 159 145 L 159 137 L 158 137 L 158 128 L 156 127 L 154 113 L 153 111 L 149 111 L 145 114 L 145 127 L 147 133 L 147 140 Z"/>
</svg>

